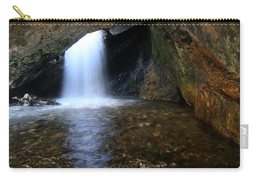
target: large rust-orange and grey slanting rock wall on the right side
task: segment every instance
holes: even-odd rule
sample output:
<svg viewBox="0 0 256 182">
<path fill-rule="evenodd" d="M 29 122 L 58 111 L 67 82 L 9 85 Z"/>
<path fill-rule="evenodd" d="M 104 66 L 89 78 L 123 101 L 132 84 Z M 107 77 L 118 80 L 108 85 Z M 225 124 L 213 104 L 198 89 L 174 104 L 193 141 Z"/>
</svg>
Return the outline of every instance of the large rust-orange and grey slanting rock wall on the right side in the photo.
<svg viewBox="0 0 256 182">
<path fill-rule="evenodd" d="M 154 68 L 196 116 L 239 143 L 239 26 L 151 26 Z"/>
</svg>

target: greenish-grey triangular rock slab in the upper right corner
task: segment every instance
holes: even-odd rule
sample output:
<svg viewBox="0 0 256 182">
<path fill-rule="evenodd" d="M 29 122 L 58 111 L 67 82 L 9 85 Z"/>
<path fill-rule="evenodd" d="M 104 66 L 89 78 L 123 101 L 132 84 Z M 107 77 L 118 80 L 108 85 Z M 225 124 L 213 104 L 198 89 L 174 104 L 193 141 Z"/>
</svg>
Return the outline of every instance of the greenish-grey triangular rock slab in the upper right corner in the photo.
<svg viewBox="0 0 256 182">
<path fill-rule="evenodd" d="M 232 23 L 230 23 L 232 24 Z M 240 73 L 239 26 L 186 26 L 191 37 L 220 61 L 229 72 Z"/>
</svg>

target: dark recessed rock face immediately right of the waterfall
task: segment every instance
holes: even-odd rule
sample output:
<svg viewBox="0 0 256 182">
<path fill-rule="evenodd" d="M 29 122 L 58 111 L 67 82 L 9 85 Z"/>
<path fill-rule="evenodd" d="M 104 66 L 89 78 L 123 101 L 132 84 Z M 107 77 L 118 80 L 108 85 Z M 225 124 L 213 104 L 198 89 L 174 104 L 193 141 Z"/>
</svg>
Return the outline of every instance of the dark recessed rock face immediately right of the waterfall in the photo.
<svg viewBox="0 0 256 182">
<path fill-rule="evenodd" d="M 149 27 L 135 26 L 106 39 L 108 95 L 181 102 L 182 95 L 171 73 L 163 72 L 168 67 L 155 66 L 157 60 L 152 57 L 150 34 Z"/>
</svg>

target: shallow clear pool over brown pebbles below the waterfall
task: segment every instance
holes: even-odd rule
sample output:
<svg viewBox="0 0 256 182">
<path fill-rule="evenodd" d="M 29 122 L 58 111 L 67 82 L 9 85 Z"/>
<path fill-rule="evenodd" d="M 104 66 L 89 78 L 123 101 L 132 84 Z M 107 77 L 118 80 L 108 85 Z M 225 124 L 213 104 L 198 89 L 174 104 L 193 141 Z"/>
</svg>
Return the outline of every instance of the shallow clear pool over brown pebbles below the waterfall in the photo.
<svg viewBox="0 0 256 182">
<path fill-rule="evenodd" d="M 115 97 L 9 111 L 14 168 L 239 167 L 239 145 L 187 104 Z"/>
</svg>

